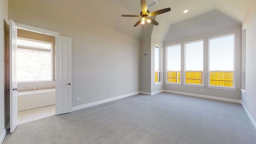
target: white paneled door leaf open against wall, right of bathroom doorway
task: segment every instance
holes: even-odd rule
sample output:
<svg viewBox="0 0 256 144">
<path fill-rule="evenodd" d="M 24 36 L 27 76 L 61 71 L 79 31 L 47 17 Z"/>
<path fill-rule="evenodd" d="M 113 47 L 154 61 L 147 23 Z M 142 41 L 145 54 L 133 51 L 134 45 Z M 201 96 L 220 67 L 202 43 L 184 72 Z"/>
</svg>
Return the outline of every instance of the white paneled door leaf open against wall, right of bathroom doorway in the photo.
<svg viewBox="0 0 256 144">
<path fill-rule="evenodd" d="M 72 39 L 55 37 L 56 115 L 72 112 Z"/>
</svg>

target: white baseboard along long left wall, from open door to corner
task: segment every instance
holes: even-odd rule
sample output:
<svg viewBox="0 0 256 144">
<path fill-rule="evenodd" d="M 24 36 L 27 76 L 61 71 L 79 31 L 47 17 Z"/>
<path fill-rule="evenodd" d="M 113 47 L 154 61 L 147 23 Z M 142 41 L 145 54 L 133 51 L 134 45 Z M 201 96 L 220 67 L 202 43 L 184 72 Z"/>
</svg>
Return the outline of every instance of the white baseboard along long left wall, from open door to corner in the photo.
<svg viewBox="0 0 256 144">
<path fill-rule="evenodd" d="M 98 104 L 103 104 L 105 102 L 111 102 L 113 100 L 118 100 L 118 99 L 121 99 L 121 98 L 126 98 L 128 96 L 133 96 L 135 94 L 140 94 L 140 92 L 133 92 L 133 93 L 130 93 L 130 94 L 124 94 L 122 96 L 116 96 L 114 98 L 108 98 L 108 99 L 100 100 L 100 101 L 97 101 L 97 102 L 91 102 L 91 103 L 83 104 L 83 105 L 80 105 L 80 106 L 74 106 L 74 107 L 72 107 L 72 111 L 80 110 L 80 109 L 83 109 L 83 108 L 88 108 L 90 106 L 96 106 Z"/>
</svg>

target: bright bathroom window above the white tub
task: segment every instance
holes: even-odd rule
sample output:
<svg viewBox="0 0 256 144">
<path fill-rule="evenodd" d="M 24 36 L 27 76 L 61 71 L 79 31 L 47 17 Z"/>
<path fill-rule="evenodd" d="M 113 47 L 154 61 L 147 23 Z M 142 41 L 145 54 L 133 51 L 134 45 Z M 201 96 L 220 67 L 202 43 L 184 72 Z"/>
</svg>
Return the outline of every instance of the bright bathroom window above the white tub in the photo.
<svg viewBox="0 0 256 144">
<path fill-rule="evenodd" d="M 52 80 L 52 43 L 18 38 L 17 81 Z"/>
</svg>

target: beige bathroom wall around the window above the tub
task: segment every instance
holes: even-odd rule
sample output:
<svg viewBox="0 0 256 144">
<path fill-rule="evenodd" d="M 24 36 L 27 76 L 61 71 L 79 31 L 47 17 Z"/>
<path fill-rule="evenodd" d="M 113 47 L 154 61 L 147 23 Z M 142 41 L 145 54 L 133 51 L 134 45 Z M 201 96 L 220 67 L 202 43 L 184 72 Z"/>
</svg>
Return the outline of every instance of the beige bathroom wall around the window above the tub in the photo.
<svg viewBox="0 0 256 144">
<path fill-rule="evenodd" d="M 19 82 L 18 91 L 19 92 L 28 91 L 29 88 L 33 90 L 34 86 L 36 86 L 36 89 L 55 88 L 55 36 L 49 36 L 46 34 L 40 34 L 36 32 L 30 32 L 27 30 L 18 29 L 18 37 L 52 43 L 52 56 L 53 56 L 52 70 L 53 70 L 53 80 L 54 80 L 54 81 L 45 81 L 45 82 Z"/>
</svg>

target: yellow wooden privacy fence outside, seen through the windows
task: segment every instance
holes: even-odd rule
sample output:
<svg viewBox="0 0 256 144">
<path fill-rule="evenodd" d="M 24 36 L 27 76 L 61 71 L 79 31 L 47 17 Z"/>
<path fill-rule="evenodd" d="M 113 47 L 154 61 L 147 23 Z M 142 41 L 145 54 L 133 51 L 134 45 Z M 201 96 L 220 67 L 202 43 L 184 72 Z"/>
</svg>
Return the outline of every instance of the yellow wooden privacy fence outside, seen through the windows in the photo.
<svg viewBox="0 0 256 144">
<path fill-rule="evenodd" d="M 168 71 L 167 82 L 180 83 L 180 71 Z M 186 71 L 186 84 L 203 84 L 203 72 Z M 232 87 L 233 71 L 210 71 L 210 85 Z"/>
</svg>

